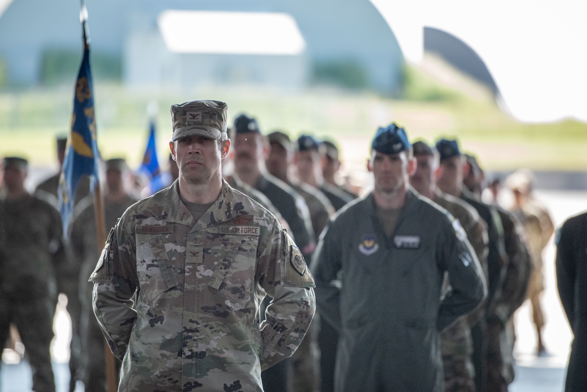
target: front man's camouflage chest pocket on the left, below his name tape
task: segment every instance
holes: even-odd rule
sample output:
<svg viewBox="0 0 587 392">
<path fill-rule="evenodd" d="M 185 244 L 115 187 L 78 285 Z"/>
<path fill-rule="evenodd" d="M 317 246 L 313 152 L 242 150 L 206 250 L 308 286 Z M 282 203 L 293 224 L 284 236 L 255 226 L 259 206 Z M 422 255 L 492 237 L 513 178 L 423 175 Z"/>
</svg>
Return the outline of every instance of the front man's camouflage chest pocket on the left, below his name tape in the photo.
<svg viewBox="0 0 587 392">
<path fill-rule="evenodd" d="M 179 284 L 160 235 L 137 246 L 137 275 L 140 296 L 147 305 Z"/>
</svg>

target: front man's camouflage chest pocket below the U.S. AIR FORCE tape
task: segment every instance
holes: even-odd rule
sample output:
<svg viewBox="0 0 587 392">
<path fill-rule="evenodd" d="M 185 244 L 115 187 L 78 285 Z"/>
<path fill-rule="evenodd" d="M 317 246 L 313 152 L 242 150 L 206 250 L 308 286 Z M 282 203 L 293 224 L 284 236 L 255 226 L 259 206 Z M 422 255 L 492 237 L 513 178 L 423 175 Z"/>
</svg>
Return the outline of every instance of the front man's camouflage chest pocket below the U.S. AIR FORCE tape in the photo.
<svg viewBox="0 0 587 392">
<path fill-rule="evenodd" d="M 235 310 L 253 299 L 258 241 L 255 235 L 224 235 L 221 246 L 204 244 L 204 259 L 214 258 L 217 263 L 208 286 L 237 302 L 238 305 L 232 306 Z"/>
</svg>

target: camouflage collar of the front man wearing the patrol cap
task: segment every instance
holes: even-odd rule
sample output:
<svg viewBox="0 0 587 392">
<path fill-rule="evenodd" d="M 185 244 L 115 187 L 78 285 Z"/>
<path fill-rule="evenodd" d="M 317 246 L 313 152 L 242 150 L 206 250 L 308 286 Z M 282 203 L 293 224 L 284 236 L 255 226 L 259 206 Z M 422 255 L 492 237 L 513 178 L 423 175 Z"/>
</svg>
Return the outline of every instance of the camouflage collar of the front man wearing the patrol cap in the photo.
<svg viewBox="0 0 587 392">
<path fill-rule="evenodd" d="M 179 180 L 176 180 L 167 192 L 167 200 L 163 209 L 163 219 L 165 221 L 190 226 L 191 231 L 211 227 L 243 214 L 247 214 L 247 212 L 244 211 L 241 202 L 235 205 L 232 188 L 224 178 L 222 178 L 220 196 L 212 203 L 208 211 L 204 212 L 199 221 L 195 221 L 180 199 Z"/>
</svg>

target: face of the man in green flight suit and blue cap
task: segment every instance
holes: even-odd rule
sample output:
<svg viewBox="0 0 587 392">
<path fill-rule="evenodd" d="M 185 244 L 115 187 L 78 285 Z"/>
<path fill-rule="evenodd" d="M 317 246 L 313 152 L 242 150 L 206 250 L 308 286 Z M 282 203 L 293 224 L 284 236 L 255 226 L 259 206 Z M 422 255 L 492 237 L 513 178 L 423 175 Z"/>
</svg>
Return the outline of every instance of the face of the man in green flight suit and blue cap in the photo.
<svg viewBox="0 0 587 392">
<path fill-rule="evenodd" d="M 373 151 L 369 171 L 373 171 L 375 189 L 386 194 L 400 191 L 406 186 L 413 165 L 414 160 L 408 160 L 406 151 L 389 155 Z"/>
</svg>

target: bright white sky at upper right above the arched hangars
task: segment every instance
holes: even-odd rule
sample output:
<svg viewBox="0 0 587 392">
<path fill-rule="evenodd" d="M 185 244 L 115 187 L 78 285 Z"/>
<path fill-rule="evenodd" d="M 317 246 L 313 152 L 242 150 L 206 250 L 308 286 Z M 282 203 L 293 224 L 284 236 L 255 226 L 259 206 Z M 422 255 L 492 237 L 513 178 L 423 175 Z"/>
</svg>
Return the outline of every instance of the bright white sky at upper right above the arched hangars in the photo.
<svg viewBox="0 0 587 392">
<path fill-rule="evenodd" d="M 0 15 L 12 1 L 0 0 Z M 424 26 L 438 28 L 484 60 L 504 110 L 515 119 L 587 121 L 587 1 L 370 1 L 389 23 L 408 62 L 421 62 Z M 289 50 L 300 45 L 294 39 Z"/>
</svg>

